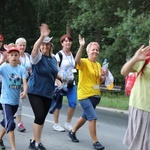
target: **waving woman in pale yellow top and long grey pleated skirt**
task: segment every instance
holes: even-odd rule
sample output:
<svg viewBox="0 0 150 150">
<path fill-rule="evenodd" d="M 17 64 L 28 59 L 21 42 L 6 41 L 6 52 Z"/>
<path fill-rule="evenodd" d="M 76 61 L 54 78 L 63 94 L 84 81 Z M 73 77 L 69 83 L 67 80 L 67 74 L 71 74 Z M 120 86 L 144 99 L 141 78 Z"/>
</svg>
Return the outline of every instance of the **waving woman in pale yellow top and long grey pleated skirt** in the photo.
<svg viewBox="0 0 150 150">
<path fill-rule="evenodd" d="M 150 149 L 150 46 L 140 47 L 121 74 L 137 72 L 129 99 L 129 120 L 123 143 L 130 150 Z"/>
</svg>

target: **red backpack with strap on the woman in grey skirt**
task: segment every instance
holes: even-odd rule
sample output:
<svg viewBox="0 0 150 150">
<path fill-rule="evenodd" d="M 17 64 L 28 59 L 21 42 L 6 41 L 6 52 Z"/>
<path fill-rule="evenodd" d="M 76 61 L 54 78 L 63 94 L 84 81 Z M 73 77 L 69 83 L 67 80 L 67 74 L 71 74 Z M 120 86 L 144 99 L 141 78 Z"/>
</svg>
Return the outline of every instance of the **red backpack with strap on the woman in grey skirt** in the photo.
<svg viewBox="0 0 150 150">
<path fill-rule="evenodd" d="M 150 54 L 148 54 L 148 55 L 150 55 Z M 142 69 L 141 69 L 141 71 L 139 72 L 139 73 L 137 73 L 137 72 L 130 72 L 127 76 L 126 76 L 126 78 L 125 78 L 125 94 L 127 95 L 127 96 L 130 96 L 130 93 L 131 93 L 131 90 L 132 90 L 132 88 L 133 88 L 133 86 L 134 86 L 134 83 L 135 83 L 135 81 L 136 81 L 136 78 L 140 75 L 142 75 L 143 74 L 143 70 L 144 70 L 144 68 L 145 68 L 145 66 L 148 64 L 150 62 L 150 58 L 148 58 L 148 59 L 146 59 L 145 60 L 145 63 L 144 63 L 144 65 L 143 65 L 143 67 L 142 67 Z"/>
</svg>

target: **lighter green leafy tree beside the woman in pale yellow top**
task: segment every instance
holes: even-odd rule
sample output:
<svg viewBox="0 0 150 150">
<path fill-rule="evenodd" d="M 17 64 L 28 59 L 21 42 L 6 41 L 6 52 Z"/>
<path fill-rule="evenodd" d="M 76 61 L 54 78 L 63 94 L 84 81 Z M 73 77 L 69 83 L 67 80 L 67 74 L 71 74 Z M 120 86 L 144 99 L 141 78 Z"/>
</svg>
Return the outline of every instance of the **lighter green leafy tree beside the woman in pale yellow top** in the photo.
<svg viewBox="0 0 150 150">
<path fill-rule="evenodd" d="M 141 45 L 148 45 L 150 33 L 149 14 L 135 15 L 136 10 L 121 11 L 118 9 L 116 15 L 122 18 L 122 22 L 113 28 L 105 28 L 108 39 L 112 45 L 104 45 L 103 53 L 110 60 L 110 68 L 115 75 L 117 84 L 123 84 L 124 77 L 120 75 L 123 64 L 133 56 Z"/>
</svg>

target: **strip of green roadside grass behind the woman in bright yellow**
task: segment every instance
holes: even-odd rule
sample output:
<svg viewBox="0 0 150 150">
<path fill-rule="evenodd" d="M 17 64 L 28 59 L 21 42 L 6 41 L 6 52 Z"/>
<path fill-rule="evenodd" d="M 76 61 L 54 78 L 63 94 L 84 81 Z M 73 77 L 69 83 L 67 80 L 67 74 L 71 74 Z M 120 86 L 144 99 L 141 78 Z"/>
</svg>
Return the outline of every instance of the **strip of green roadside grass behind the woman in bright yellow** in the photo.
<svg viewBox="0 0 150 150">
<path fill-rule="evenodd" d="M 124 94 L 103 93 L 99 106 L 128 110 L 129 97 Z"/>
</svg>

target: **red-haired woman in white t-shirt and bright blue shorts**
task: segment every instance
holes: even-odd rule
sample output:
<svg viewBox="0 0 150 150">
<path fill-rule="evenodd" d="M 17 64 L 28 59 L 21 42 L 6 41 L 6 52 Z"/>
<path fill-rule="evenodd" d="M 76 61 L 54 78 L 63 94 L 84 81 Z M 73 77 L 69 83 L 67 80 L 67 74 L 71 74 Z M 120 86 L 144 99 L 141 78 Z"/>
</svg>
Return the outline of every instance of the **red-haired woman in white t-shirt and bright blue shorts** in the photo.
<svg viewBox="0 0 150 150">
<path fill-rule="evenodd" d="M 54 111 L 53 130 L 64 132 L 65 130 L 69 131 L 72 129 L 71 120 L 74 115 L 77 104 L 76 85 L 74 80 L 74 73 L 76 72 L 76 70 L 74 69 L 75 59 L 71 52 L 72 37 L 69 35 L 63 35 L 60 39 L 60 43 L 62 45 L 62 50 L 60 50 L 55 56 L 59 66 L 58 75 L 61 79 L 61 82 L 57 80 L 57 86 L 58 88 L 62 86 L 66 86 L 68 88 L 68 92 L 66 95 L 68 100 L 68 111 L 67 111 L 67 119 L 63 128 L 59 124 L 59 113 L 62 107 L 62 100 L 63 100 L 63 96 L 60 96 L 59 104 L 57 105 Z M 53 100 L 53 103 L 54 101 L 55 100 Z"/>
</svg>

